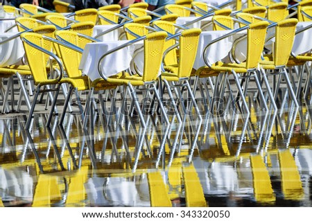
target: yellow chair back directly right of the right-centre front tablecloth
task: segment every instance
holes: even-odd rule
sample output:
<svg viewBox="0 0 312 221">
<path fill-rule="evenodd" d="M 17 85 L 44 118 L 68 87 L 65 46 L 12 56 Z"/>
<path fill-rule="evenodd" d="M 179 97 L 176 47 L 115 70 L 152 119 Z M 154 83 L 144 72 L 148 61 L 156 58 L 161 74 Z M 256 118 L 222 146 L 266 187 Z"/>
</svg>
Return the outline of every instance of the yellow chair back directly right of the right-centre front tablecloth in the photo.
<svg viewBox="0 0 312 221">
<path fill-rule="evenodd" d="M 247 58 L 246 69 L 254 69 L 258 67 L 261 53 L 266 38 L 267 21 L 259 21 L 250 24 L 247 31 Z"/>
</svg>

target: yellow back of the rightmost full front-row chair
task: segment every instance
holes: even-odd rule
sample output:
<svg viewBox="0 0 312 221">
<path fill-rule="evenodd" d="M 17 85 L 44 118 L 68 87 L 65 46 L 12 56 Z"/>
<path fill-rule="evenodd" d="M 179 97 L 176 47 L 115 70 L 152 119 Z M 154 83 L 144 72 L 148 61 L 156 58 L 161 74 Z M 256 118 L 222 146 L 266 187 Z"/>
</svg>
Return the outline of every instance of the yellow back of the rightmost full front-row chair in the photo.
<svg viewBox="0 0 312 221">
<path fill-rule="evenodd" d="M 293 48 L 297 23 L 297 19 L 285 19 L 277 23 L 275 28 L 275 49 L 273 51 L 275 66 L 287 64 Z"/>
</svg>

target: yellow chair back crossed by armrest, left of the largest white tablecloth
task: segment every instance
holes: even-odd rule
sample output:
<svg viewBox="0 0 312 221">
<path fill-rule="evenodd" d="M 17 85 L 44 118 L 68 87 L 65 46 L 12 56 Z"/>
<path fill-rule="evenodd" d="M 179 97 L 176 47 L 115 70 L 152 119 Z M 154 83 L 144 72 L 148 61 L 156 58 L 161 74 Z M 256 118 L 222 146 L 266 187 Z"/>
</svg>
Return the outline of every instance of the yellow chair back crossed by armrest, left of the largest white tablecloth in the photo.
<svg viewBox="0 0 312 221">
<path fill-rule="evenodd" d="M 71 30 L 57 30 L 55 32 L 55 36 L 59 36 L 67 42 L 70 42 L 73 45 L 76 45 L 80 48 L 84 48 L 85 46 L 81 47 L 81 41 L 76 32 Z M 60 48 L 60 55 L 62 57 L 62 61 L 64 67 L 67 71 L 69 78 L 75 78 L 81 76 L 81 71 L 78 69 L 79 63 L 81 60 L 82 54 L 78 53 L 77 51 L 73 51 L 65 46 L 59 45 Z"/>
</svg>

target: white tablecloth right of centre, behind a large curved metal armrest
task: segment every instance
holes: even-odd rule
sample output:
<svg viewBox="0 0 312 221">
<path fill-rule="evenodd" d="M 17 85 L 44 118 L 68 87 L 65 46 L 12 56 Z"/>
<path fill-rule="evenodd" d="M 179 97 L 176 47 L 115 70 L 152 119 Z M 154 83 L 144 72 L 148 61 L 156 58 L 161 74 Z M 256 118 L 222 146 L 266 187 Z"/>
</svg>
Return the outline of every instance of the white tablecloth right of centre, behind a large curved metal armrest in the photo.
<svg viewBox="0 0 312 221">
<path fill-rule="evenodd" d="M 232 30 L 210 30 L 203 31 L 200 34 L 198 42 L 198 51 L 196 55 L 196 60 L 194 62 L 194 69 L 198 69 L 206 65 L 202 53 L 204 52 L 207 44 L 209 44 L 212 40 L 221 37 L 231 31 Z M 234 40 L 245 34 L 246 32 L 237 33 L 235 35 L 222 39 L 219 42 L 211 44 L 211 46 L 209 46 L 209 48 L 207 49 L 207 53 L 205 55 L 207 57 L 209 64 L 214 64 L 215 62 L 218 62 L 219 60 L 223 60 L 223 58 L 226 58 L 227 55 L 229 54 L 229 51 L 231 51 Z M 237 46 L 236 58 L 239 58 L 239 60 L 243 61 L 245 60 L 245 54 L 246 54 L 246 42 L 243 41 L 241 44 Z"/>
</svg>

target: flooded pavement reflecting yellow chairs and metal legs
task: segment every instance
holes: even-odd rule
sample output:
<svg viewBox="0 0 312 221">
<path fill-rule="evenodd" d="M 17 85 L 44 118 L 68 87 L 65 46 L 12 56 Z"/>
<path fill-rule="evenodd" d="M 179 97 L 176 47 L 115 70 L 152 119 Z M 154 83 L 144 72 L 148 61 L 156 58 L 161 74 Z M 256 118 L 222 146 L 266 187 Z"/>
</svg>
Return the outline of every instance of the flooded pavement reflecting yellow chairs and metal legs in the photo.
<svg viewBox="0 0 312 221">
<path fill-rule="evenodd" d="M 0 206 L 311 206 L 311 104 L 248 98 L 250 114 L 149 114 L 146 127 L 96 115 L 83 130 L 77 114 L 46 127 L 36 112 L 28 132 L 3 114 Z"/>
</svg>

